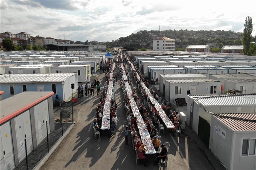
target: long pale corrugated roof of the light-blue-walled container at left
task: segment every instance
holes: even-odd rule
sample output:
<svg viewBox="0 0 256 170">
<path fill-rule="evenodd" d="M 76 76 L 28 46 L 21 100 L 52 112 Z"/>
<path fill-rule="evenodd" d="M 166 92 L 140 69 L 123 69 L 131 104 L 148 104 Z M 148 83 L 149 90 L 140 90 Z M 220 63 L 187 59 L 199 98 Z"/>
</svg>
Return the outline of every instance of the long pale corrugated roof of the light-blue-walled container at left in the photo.
<svg viewBox="0 0 256 170">
<path fill-rule="evenodd" d="M 33 82 L 63 82 L 76 73 L 54 73 L 54 74 L 2 74 L 2 83 L 33 83 Z"/>
</svg>

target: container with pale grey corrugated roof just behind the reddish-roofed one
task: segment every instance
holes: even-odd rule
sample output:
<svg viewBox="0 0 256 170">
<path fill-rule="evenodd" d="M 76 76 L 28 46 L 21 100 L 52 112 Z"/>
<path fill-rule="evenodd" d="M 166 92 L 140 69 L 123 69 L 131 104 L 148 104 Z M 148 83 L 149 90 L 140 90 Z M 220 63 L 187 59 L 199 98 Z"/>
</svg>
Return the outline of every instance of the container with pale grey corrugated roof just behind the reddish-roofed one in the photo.
<svg viewBox="0 0 256 170">
<path fill-rule="evenodd" d="M 211 123 L 212 113 L 256 112 L 256 94 L 238 95 L 189 95 L 186 121 L 198 134 L 199 116 Z"/>
</svg>

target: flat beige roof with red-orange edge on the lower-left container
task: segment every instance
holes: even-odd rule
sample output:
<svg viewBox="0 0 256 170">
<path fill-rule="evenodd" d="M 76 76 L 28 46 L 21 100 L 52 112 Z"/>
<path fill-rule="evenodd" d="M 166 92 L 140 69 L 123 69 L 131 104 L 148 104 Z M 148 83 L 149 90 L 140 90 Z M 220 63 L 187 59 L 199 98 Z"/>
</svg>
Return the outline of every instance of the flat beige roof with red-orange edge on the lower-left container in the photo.
<svg viewBox="0 0 256 170">
<path fill-rule="evenodd" d="M 3 124 L 29 108 L 32 108 L 52 95 L 52 91 L 26 91 L 0 101 L 0 124 Z"/>
</svg>

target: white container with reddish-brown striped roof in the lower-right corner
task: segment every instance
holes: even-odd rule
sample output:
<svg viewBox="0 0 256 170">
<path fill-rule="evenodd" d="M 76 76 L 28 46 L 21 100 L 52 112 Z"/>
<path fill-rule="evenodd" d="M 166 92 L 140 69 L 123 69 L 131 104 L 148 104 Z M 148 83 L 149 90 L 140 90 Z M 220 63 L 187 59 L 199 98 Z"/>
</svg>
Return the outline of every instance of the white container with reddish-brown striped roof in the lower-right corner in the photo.
<svg viewBox="0 0 256 170">
<path fill-rule="evenodd" d="M 255 120 L 256 112 L 211 115 L 209 148 L 228 170 L 256 169 Z"/>
</svg>

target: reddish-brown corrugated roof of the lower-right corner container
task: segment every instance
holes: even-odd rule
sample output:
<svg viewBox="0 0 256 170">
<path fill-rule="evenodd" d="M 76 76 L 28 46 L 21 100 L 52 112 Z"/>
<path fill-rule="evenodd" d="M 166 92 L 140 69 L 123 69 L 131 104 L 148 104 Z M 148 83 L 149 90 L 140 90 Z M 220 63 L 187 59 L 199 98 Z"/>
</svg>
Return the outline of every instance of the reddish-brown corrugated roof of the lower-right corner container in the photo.
<svg viewBox="0 0 256 170">
<path fill-rule="evenodd" d="M 218 113 L 212 116 L 234 132 L 256 130 L 256 122 L 249 121 L 256 120 L 256 113 Z"/>
</svg>

